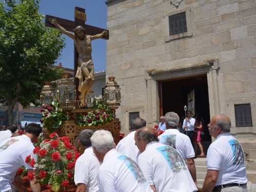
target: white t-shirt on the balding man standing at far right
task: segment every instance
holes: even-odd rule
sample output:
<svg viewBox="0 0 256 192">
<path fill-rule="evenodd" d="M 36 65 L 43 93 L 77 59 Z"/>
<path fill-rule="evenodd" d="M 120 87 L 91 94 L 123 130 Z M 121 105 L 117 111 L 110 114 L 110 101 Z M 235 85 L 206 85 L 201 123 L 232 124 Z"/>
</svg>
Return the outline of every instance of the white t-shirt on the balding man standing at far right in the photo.
<svg viewBox="0 0 256 192">
<path fill-rule="evenodd" d="M 207 169 L 219 170 L 217 185 L 247 183 L 244 151 L 230 133 L 219 135 L 207 151 Z"/>
</svg>

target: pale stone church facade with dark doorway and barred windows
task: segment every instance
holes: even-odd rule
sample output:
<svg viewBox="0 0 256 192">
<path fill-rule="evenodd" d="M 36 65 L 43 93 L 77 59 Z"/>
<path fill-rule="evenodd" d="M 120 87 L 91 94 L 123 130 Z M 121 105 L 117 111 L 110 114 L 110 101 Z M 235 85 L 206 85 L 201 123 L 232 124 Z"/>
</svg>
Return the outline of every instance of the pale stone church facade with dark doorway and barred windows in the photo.
<svg viewBox="0 0 256 192">
<path fill-rule="evenodd" d="M 203 75 L 210 118 L 230 117 L 231 134 L 249 154 L 248 166 L 255 167 L 255 0 L 109 0 L 106 5 L 106 77 L 116 77 L 121 88 L 122 131 L 129 133 L 132 113 L 147 125 L 159 122 L 164 115 L 159 82 Z M 170 19 L 180 14 L 186 30 L 173 33 Z M 251 114 L 248 126 L 239 126 L 240 107 Z"/>
</svg>

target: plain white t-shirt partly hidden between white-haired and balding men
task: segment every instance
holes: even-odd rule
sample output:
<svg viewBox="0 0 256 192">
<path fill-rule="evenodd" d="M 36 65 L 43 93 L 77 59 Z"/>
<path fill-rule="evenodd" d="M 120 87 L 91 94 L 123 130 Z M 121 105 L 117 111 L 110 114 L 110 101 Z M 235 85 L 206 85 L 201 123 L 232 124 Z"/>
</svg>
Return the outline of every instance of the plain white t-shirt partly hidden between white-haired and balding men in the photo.
<svg viewBox="0 0 256 192">
<path fill-rule="evenodd" d="M 138 147 L 135 145 L 135 140 L 134 140 L 135 132 L 136 131 L 131 132 L 122 140 L 120 140 L 116 146 L 116 151 L 120 152 L 123 155 L 126 155 L 127 157 L 130 157 L 137 163 L 137 159 L 140 155 L 140 151 Z"/>
</svg>

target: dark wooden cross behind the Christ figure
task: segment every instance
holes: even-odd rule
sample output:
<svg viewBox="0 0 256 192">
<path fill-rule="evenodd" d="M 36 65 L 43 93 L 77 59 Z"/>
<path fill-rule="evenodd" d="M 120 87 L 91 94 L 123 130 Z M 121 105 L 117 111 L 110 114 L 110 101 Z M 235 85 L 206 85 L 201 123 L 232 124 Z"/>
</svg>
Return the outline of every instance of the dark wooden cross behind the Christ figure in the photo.
<svg viewBox="0 0 256 192">
<path fill-rule="evenodd" d="M 75 19 L 74 19 L 75 21 L 74 22 L 72 20 L 67 20 L 67 19 L 63 19 L 63 18 L 51 16 L 51 15 L 46 15 L 45 16 L 45 26 L 46 27 L 56 28 L 54 25 L 52 25 L 50 23 L 50 18 L 56 18 L 58 24 L 61 27 L 65 28 L 67 31 L 70 31 L 70 32 L 74 32 L 73 29 L 77 26 L 84 27 L 86 29 L 86 34 L 87 35 L 97 35 L 97 34 L 102 33 L 104 30 L 106 30 L 106 29 L 101 29 L 101 28 L 98 28 L 98 27 L 94 27 L 94 26 L 84 24 L 84 22 L 86 21 L 86 10 L 83 9 L 83 8 L 80 8 L 80 7 L 75 7 Z M 101 38 L 102 39 L 109 39 L 109 33 L 108 33 L 108 35 L 105 35 Z M 75 43 L 74 43 L 74 80 L 75 80 L 76 93 L 77 93 L 76 94 L 76 99 L 79 100 L 79 97 L 78 97 L 79 80 L 77 78 L 75 78 L 77 67 L 78 67 L 78 52 L 76 50 Z"/>
</svg>

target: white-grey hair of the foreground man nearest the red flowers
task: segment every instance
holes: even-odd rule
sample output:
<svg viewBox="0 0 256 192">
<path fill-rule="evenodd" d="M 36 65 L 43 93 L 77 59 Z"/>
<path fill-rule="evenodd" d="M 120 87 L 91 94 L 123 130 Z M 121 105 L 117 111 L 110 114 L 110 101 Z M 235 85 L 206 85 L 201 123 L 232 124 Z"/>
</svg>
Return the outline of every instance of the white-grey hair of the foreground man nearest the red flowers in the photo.
<svg viewBox="0 0 256 192">
<path fill-rule="evenodd" d="M 91 137 L 91 141 L 92 146 L 100 153 L 110 151 L 115 148 L 113 136 L 109 131 L 96 131 Z"/>
</svg>

